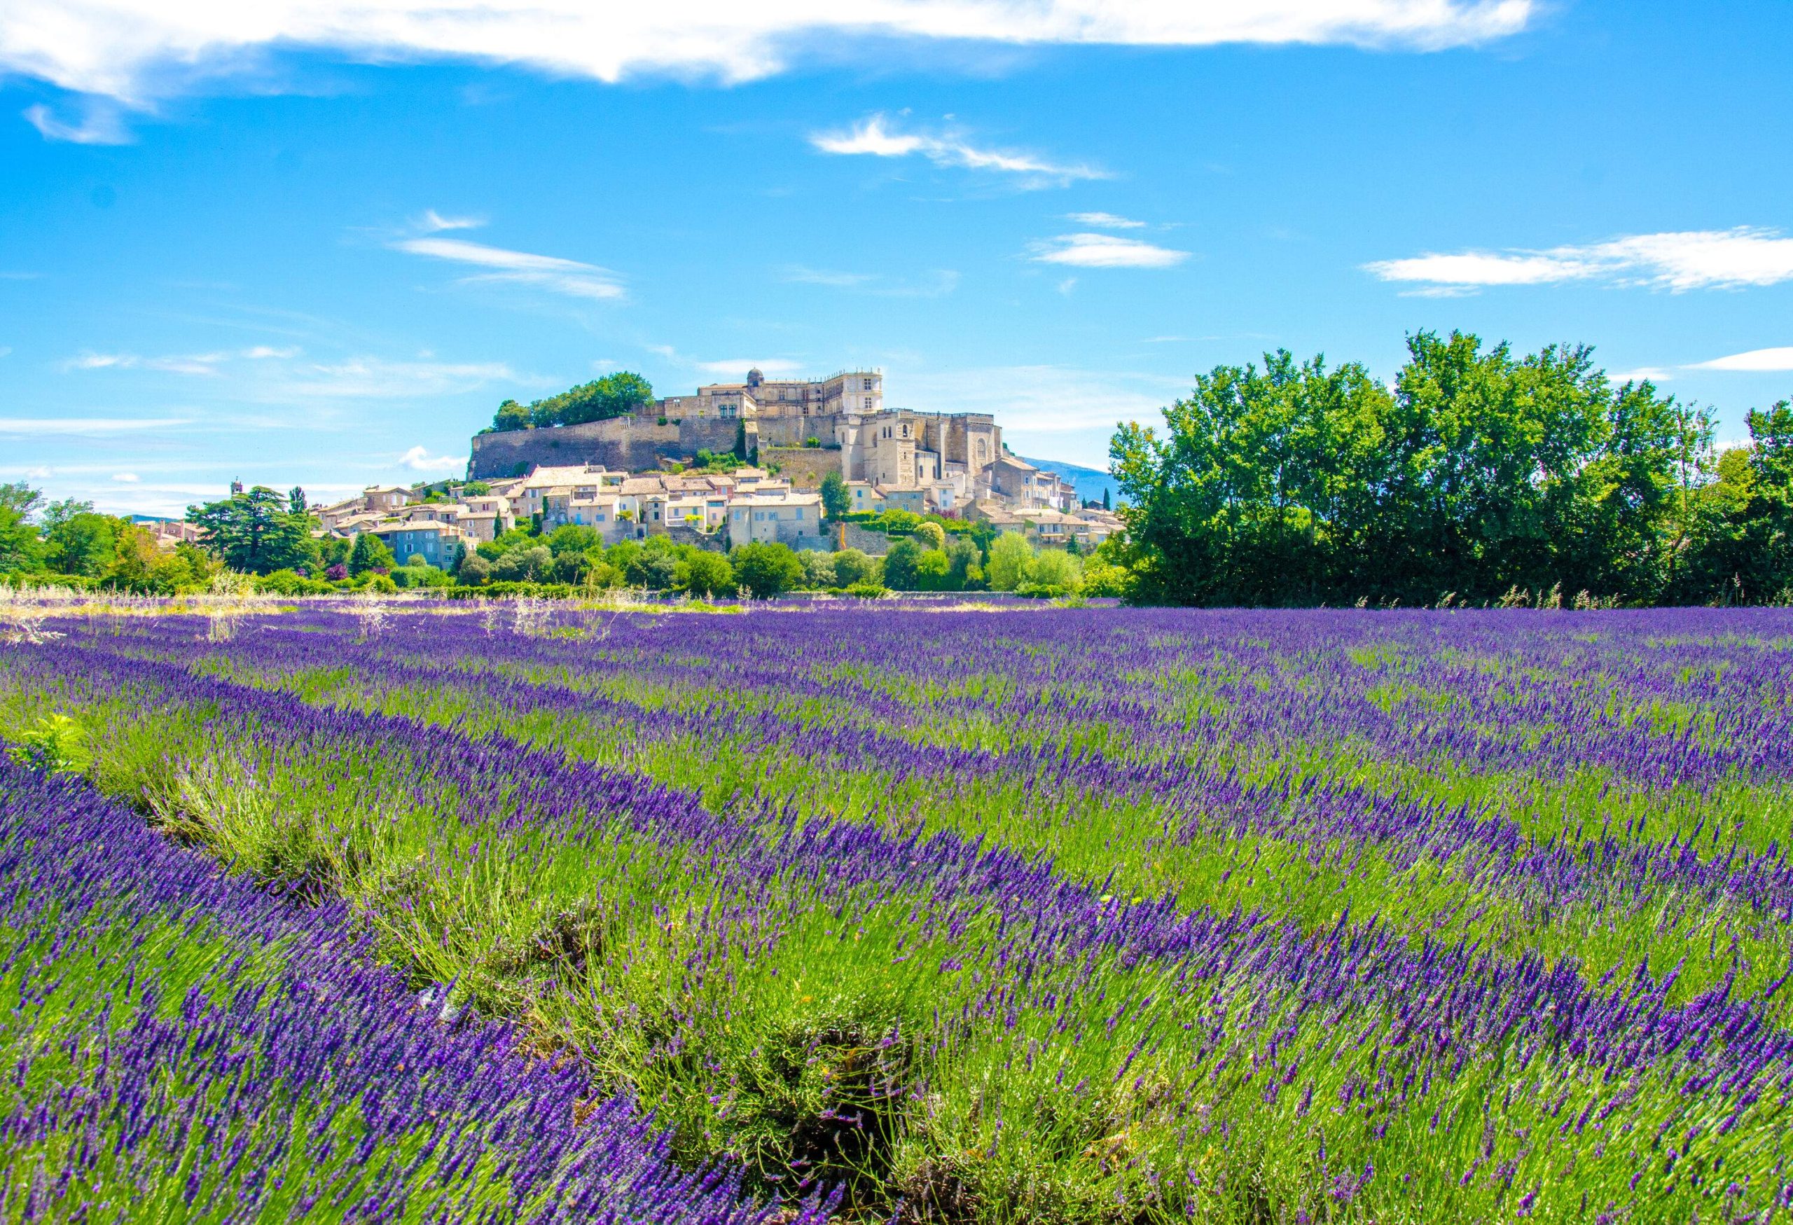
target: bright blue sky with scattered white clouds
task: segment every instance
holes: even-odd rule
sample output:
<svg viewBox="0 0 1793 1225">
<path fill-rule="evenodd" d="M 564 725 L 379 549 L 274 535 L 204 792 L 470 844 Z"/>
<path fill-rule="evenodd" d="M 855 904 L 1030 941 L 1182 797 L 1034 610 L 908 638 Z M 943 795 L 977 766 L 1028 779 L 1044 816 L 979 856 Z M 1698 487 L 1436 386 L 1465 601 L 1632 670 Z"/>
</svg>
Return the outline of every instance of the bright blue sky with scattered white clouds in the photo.
<svg viewBox="0 0 1793 1225">
<path fill-rule="evenodd" d="M 1416 328 L 1723 438 L 1793 393 L 1782 2 L 507 4 L 9 4 L 0 481 L 335 495 L 749 362 L 1103 466 L 1200 369 Z"/>
</svg>

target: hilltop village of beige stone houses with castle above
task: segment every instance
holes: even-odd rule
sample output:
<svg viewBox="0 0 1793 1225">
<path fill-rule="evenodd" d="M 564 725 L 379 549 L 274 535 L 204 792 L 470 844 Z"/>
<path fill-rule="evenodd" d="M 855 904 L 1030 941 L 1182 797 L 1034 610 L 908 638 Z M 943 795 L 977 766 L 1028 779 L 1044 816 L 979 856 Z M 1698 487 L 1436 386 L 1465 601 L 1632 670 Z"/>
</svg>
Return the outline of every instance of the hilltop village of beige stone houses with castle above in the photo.
<svg viewBox="0 0 1793 1225">
<path fill-rule="evenodd" d="M 515 407 L 509 405 L 507 407 Z M 332 536 L 378 536 L 398 563 L 454 570 L 516 527 L 590 527 L 606 543 L 671 536 L 728 551 L 749 542 L 880 556 L 888 511 L 990 524 L 1035 547 L 1083 552 L 1113 534 L 1058 473 L 1013 456 L 990 414 L 884 407 L 884 377 L 697 387 L 604 420 L 533 425 L 500 409 L 472 441 L 468 481 L 436 491 L 373 486 L 317 506 Z M 896 517 L 900 522 L 902 517 Z"/>
</svg>

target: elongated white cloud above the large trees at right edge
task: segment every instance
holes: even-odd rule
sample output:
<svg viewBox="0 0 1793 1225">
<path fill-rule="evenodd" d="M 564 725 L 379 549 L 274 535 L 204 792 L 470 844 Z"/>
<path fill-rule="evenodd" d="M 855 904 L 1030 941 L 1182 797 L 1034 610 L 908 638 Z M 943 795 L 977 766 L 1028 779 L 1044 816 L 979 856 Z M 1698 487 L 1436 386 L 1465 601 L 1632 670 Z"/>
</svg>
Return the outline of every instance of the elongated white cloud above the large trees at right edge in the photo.
<svg viewBox="0 0 1793 1225">
<path fill-rule="evenodd" d="M 1379 260 L 1364 269 L 1386 282 L 1425 283 L 1458 294 L 1486 285 L 1603 282 L 1687 289 L 1741 289 L 1793 280 L 1793 239 L 1779 230 L 1639 233 L 1544 251 L 1463 251 Z M 1422 291 L 1424 292 L 1424 291 Z"/>
</svg>

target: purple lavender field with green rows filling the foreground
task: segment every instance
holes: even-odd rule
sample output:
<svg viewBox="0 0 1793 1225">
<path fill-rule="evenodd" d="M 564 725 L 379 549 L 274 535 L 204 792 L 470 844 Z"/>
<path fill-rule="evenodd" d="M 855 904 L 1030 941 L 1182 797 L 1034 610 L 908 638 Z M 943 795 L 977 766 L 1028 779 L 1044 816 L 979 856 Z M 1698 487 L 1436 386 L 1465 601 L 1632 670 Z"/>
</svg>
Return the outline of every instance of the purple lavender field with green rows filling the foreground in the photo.
<svg viewBox="0 0 1793 1225">
<path fill-rule="evenodd" d="M 1793 612 L 142 613 L 0 649 L 5 1220 L 1793 1214 Z"/>
</svg>

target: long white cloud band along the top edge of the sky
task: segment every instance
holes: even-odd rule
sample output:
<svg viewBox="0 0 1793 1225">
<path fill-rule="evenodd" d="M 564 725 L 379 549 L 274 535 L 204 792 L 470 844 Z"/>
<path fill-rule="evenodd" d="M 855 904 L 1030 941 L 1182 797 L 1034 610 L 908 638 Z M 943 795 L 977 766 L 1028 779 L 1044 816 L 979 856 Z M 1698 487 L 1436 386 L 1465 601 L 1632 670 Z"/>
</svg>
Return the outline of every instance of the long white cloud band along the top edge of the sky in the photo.
<svg viewBox="0 0 1793 1225">
<path fill-rule="evenodd" d="M 195 77 L 251 72 L 274 47 L 527 65 L 601 81 L 649 72 L 749 81 L 852 36 L 1431 50 L 1513 34 L 1537 9 L 1537 0 L 11 0 L 0 7 L 0 70 L 133 104 Z"/>
</svg>

